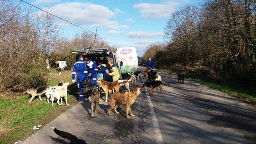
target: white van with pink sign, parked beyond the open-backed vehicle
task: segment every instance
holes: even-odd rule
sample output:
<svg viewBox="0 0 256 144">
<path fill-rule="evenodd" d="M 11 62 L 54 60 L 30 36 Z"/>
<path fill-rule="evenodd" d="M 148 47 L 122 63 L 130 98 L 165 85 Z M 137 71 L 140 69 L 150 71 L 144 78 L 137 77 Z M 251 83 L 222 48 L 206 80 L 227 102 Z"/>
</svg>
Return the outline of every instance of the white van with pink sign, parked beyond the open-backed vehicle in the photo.
<svg viewBox="0 0 256 144">
<path fill-rule="evenodd" d="M 120 61 L 123 61 L 121 73 L 136 72 L 139 68 L 138 57 L 135 47 L 118 47 L 116 53 Z"/>
</svg>

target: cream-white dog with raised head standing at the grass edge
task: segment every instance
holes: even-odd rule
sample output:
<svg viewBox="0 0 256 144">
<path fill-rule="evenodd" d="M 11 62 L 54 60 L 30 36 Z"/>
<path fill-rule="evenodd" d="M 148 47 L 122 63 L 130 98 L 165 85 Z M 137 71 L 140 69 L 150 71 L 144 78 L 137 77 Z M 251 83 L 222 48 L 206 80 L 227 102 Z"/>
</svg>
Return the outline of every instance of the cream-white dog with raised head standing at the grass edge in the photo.
<svg viewBox="0 0 256 144">
<path fill-rule="evenodd" d="M 60 106 L 62 104 L 63 97 L 65 97 L 66 105 L 69 105 L 68 104 L 68 84 L 69 83 L 63 83 L 62 86 L 58 86 L 54 90 L 50 90 L 52 107 L 53 107 L 53 101 L 55 98 L 57 99 L 57 104 Z M 61 100 L 60 103 L 59 103 L 59 100 Z"/>
</svg>

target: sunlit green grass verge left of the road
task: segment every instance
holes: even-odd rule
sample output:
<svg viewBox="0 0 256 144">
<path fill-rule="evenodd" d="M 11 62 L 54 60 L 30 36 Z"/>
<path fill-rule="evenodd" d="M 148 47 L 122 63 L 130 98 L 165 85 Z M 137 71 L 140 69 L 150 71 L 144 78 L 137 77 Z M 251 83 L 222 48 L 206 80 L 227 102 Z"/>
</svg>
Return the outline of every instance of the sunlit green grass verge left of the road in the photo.
<svg viewBox="0 0 256 144">
<path fill-rule="evenodd" d="M 64 72 L 60 76 L 56 76 L 53 69 L 50 69 L 50 71 L 52 72 L 48 81 L 51 86 L 59 82 L 70 83 L 68 87 L 69 91 L 72 92 L 68 95 L 68 104 L 70 106 L 67 106 L 65 102 L 59 106 L 55 100 L 54 107 L 52 107 L 51 103 L 44 101 L 44 96 L 42 97 L 43 101 L 36 96 L 33 101 L 27 103 L 30 100 L 28 94 L 9 100 L 0 98 L 0 143 L 13 143 L 24 140 L 36 132 L 32 129 L 34 126 L 41 125 L 42 128 L 77 103 L 74 95 L 76 95 L 78 89 L 76 84 L 72 84 L 71 73 Z"/>
</svg>

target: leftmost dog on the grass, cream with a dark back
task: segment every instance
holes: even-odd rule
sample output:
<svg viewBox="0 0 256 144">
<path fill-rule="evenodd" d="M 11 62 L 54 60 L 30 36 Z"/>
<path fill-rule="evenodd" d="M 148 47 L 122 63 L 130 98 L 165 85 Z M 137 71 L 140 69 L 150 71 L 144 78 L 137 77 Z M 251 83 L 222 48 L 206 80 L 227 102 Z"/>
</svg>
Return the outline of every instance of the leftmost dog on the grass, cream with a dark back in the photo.
<svg viewBox="0 0 256 144">
<path fill-rule="evenodd" d="M 38 96 L 39 99 L 42 101 L 41 95 L 44 94 L 49 89 L 50 89 L 50 87 L 47 86 L 47 85 L 41 86 L 41 87 L 37 87 L 37 88 L 28 88 L 26 90 L 26 92 L 28 94 L 31 94 L 31 99 L 28 102 L 31 102 L 35 98 L 35 96 Z"/>
</svg>

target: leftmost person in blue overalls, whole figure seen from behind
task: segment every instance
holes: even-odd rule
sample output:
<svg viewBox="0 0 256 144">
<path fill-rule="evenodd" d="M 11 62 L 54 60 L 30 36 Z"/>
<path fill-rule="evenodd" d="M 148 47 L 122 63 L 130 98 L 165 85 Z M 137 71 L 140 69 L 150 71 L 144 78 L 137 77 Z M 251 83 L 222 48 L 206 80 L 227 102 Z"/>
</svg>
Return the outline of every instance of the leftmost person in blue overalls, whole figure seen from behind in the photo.
<svg viewBox="0 0 256 144">
<path fill-rule="evenodd" d="M 79 88 L 79 101 L 84 101 L 84 95 L 82 95 L 82 81 L 84 78 L 88 78 L 88 71 L 86 64 L 83 60 L 83 56 L 80 54 L 77 56 L 78 60 L 73 66 L 73 72 L 72 72 L 72 82 L 75 83 L 75 76 L 76 76 L 76 82 L 78 84 Z M 77 75 L 76 75 L 77 73 Z"/>
</svg>

